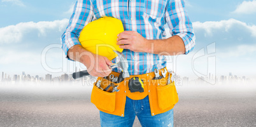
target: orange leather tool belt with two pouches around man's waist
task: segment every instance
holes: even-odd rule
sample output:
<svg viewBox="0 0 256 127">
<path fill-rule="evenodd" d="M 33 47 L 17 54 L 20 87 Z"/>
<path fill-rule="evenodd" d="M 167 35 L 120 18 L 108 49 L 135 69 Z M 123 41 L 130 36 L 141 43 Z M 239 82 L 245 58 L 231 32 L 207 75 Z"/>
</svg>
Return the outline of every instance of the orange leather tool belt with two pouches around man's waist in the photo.
<svg viewBox="0 0 256 127">
<path fill-rule="evenodd" d="M 162 74 L 161 70 L 164 69 L 160 69 L 159 74 Z M 111 72 L 111 74 L 119 76 L 118 72 Z M 152 116 L 167 112 L 173 109 L 174 105 L 178 102 L 178 93 L 174 81 L 167 84 L 169 72 L 167 72 L 166 77 L 162 79 L 153 79 L 154 76 L 154 72 L 134 75 L 125 78 L 124 81 L 120 83 L 113 83 L 108 79 L 98 77 L 92 88 L 91 102 L 102 112 L 124 117 L 126 97 L 132 100 L 141 100 L 148 96 Z M 129 90 L 129 79 L 133 77 L 139 77 L 143 80 L 143 92 L 136 91 L 132 93 Z M 96 86 L 99 80 L 101 81 L 101 89 Z M 111 83 L 113 83 L 114 86 L 118 86 L 119 91 L 104 91 Z"/>
</svg>

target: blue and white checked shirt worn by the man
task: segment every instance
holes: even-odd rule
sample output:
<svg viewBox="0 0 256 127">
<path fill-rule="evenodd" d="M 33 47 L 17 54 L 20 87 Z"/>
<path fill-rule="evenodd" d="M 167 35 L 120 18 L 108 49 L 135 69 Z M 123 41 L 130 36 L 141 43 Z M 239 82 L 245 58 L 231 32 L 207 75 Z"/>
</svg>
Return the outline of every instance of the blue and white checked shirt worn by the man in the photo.
<svg viewBox="0 0 256 127">
<path fill-rule="evenodd" d="M 62 49 L 80 44 L 78 37 L 85 25 L 101 17 L 115 17 L 122 21 L 124 30 L 134 30 L 146 39 L 163 39 L 167 23 L 171 35 L 183 39 L 186 54 L 195 46 L 194 30 L 183 0 L 78 0 L 69 25 L 62 35 Z M 152 53 L 122 52 L 128 60 L 131 75 L 153 72 L 166 67 L 166 57 Z M 118 62 L 118 57 L 112 60 Z M 113 69 L 120 72 L 120 69 Z"/>
</svg>

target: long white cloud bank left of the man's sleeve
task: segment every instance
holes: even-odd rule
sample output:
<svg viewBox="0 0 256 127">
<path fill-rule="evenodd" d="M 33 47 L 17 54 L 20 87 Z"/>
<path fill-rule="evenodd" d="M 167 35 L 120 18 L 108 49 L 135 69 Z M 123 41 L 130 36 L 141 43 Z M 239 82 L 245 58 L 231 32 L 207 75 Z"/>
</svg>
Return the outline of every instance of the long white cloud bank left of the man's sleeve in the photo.
<svg viewBox="0 0 256 127">
<path fill-rule="evenodd" d="M 0 44 L 20 43 L 25 34 L 37 33 L 38 37 L 45 36 L 46 32 L 58 30 L 63 32 L 63 29 L 68 25 L 68 19 L 55 20 L 53 22 L 25 22 L 17 25 L 9 25 L 0 28 Z M 27 36 L 28 37 L 28 36 Z"/>
</svg>

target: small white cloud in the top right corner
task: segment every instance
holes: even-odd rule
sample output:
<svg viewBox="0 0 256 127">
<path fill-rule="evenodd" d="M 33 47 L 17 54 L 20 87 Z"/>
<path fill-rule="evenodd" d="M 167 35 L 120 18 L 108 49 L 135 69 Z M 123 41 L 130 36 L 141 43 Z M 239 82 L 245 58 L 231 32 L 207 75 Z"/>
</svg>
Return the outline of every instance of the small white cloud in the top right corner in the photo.
<svg viewBox="0 0 256 127">
<path fill-rule="evenodd" d="M 256 13 L 256 0 L 253 1 L 243 1 L 239 4 L 233 13 L 237 14 L 253 14 Z"/>
</svg>

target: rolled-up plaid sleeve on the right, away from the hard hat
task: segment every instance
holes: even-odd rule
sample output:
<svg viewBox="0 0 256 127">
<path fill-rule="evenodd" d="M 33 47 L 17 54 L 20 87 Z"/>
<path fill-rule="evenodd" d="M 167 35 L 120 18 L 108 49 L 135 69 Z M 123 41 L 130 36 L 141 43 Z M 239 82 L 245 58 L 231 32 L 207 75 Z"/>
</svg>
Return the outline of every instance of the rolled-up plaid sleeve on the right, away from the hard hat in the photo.
<svg viewBox="0 0 256 127">
<path fill-rule="evenodd" d="M 169 0 L 166 7 L 166 22 L 172 36 L 180 36 L 185 44 L 185 54 L 194 49 L 196 36 L 188 18 L 183 0 Z"/>
</svg>

